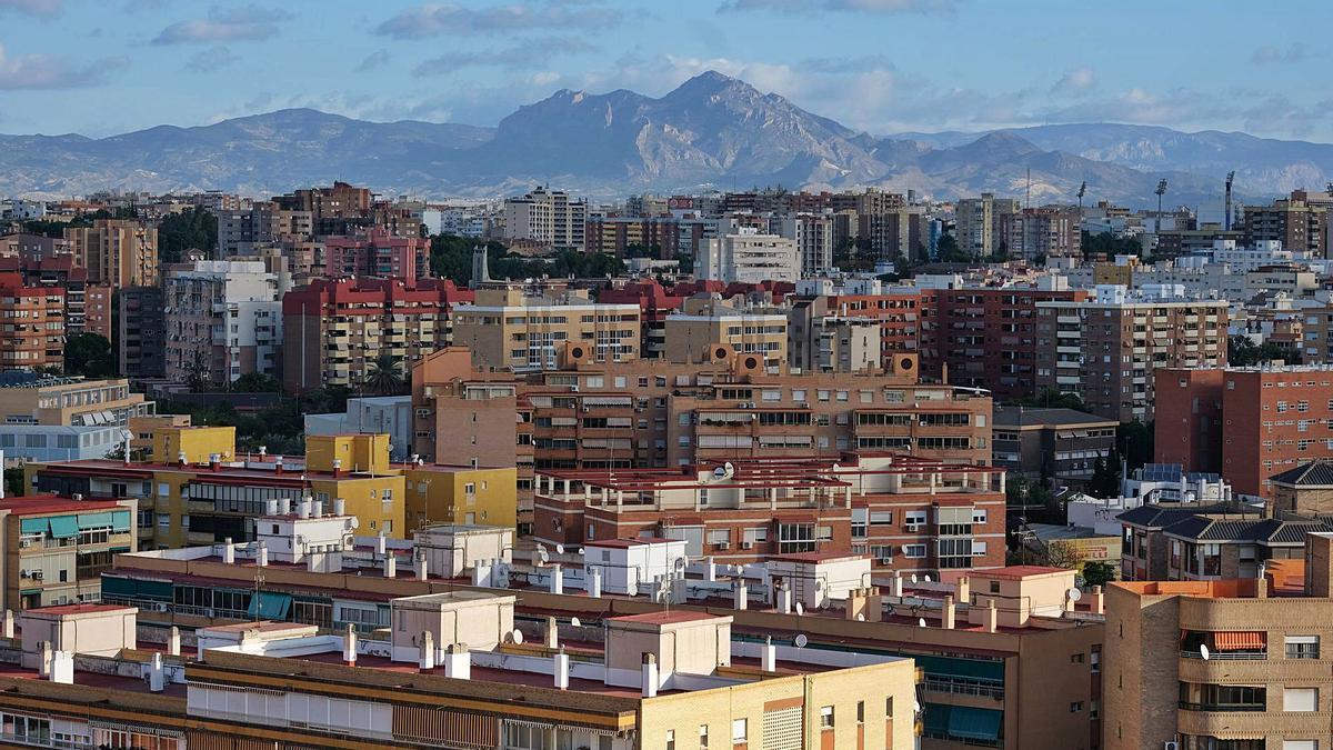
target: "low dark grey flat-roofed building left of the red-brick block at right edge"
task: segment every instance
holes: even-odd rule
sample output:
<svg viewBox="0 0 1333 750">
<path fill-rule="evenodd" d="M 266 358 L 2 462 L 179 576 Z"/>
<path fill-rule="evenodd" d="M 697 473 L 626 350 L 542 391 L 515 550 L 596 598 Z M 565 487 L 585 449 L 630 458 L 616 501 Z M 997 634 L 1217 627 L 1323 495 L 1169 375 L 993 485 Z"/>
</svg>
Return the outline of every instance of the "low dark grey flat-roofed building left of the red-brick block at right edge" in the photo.
<svg viewBox="0 0 1333 750">
<path fill-rule="evenodd" d="M 997 407 L 992 456 L 997 467 L 1029 479 L 1080 486 L 1116 447 L 1114 419 L 1072 408 Z"/>
</svg>

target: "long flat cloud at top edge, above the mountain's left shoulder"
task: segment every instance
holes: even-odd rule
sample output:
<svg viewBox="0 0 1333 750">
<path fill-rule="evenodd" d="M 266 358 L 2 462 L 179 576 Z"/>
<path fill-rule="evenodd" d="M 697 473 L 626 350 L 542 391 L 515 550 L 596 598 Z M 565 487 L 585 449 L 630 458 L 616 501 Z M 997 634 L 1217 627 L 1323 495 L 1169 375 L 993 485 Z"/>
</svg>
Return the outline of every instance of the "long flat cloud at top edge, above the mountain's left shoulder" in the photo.
<svg viewBox="0 0 1333 750">
<path fill-rule="evenodd" d="M 624 16 L 621 9 L 605 5 L 600 0 L 545 0 L 483 8 L 427 3 L 381 23 L 375 33 L 395 39 L 428 39 L 452 33 L 592 31 L 620 25 Z"/>
</svg>

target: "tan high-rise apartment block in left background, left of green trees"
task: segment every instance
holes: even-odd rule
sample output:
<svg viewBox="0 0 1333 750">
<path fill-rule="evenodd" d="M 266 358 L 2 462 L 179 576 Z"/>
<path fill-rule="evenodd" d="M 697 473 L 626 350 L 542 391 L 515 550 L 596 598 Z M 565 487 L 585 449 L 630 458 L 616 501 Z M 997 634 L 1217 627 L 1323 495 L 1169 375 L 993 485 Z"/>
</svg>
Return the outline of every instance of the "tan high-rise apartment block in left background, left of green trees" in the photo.
<svg viewBox="0 0 1333 750">
<path fill-rule="evenodd" d="M 65 230 L 75 264 L 88 282 L 115 290 L 157 283 L 157 228 L 133 219 L 97 219 Z"/>
</svg>

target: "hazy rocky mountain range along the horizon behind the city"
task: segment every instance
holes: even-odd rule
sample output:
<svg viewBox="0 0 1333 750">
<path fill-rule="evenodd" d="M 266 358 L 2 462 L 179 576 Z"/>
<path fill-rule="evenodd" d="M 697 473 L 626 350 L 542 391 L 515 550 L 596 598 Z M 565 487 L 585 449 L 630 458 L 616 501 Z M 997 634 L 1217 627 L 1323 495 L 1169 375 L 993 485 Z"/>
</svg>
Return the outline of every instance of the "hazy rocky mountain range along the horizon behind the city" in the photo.
<svg viewBox="0 0 1333 750">
<path fill-rule="evenodd" d="M 385 195 L 495 196 L 549 183 L 593 198 L 631 192 L 882 187 L 950 199 L 993 191 L 1036 203 L 1218 204 L 1324 190 L 1333 144 L 1124 124 L 989 132 L 857 132 L 738 79 L 701 73 L 661 97 L 557 91 L 496 127 L 371 123 L 281 109 L 101 139 L 0 135 L 0 195 L 223 190 L 269 195 L 335 179 Z"/>
</svg>

